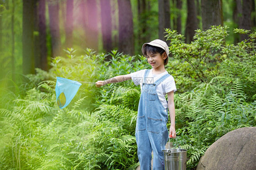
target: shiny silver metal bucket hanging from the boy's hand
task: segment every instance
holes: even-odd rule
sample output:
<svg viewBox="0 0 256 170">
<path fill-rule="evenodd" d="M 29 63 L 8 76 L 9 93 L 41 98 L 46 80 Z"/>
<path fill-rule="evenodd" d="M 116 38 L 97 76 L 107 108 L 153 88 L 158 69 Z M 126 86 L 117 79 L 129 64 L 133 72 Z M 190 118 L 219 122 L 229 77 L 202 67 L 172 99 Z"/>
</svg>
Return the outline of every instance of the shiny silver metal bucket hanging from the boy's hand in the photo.
<svg viewBox="0 0 256 170">
<path fill-rule="evenodd" d="M 163 152 L 165 170 L 186 170 L 187 150 L 166 149 Z"/>
</svg>

